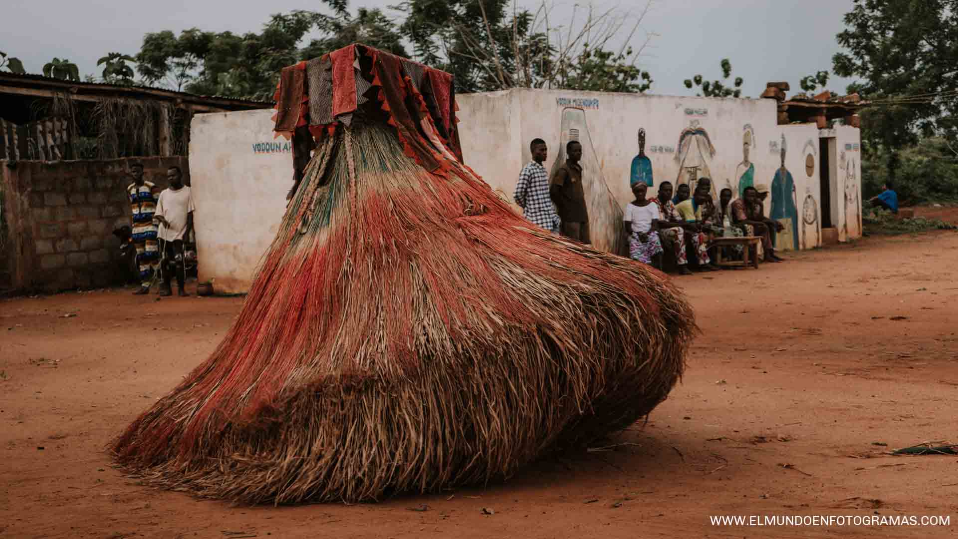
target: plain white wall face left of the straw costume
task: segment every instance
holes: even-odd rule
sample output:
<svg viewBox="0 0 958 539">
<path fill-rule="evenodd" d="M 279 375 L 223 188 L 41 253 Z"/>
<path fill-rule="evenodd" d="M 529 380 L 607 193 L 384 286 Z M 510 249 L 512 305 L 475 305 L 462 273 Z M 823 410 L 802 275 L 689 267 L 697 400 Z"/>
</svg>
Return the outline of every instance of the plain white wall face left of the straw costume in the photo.
<svg viewBox="0 0 958 539">
<path fill-rule="evenodd" d="M 244 293 L 272 243 L 292 185 L 292 152 L 273 137 L 273 110 L 194 116 L 190 175 L 200 282 Z M 258 146 L 257 146 L 258 145 Z"/>
</svg>

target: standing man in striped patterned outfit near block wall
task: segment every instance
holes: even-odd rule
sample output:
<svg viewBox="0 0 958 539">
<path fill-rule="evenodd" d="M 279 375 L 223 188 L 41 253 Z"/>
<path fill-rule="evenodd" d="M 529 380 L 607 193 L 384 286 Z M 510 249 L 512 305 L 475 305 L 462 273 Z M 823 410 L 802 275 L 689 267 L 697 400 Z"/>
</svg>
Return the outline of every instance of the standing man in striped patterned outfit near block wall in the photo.
<svg viewBox="0 0 958 539">
<path fill-rule="evenodd" d="M 129 199 L 132 214 L 130 239 L 136 247 L 136 266 L 140 270 L 140 289 L 134 294 L 141 295 L 149 293 L 149 285 L 160 258 L 156 246 L 156 223 L 153 222 L 159 188 L 143 178 L 142 163 L 132 163 L 129 176 L 133 178 L 133 183 L 126 186 L 126 198 Z"/>
</svg>

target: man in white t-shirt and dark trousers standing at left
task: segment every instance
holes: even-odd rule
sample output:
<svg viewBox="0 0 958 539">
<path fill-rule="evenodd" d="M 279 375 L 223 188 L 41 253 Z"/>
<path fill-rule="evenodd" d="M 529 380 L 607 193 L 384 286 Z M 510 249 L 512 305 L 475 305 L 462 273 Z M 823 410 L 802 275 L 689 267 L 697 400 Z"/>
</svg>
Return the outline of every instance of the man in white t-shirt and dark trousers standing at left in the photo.
<svg viewBox="0 0 958 539">
<path fill-rule="evenodd" d="M 167 179 L 170 181 L 170 187 L 160 193 L 156 202 L 156 213 L 153 214 L 153 219 L 160 223 L 158 238 L 163 256 L 160 262 L 160 270 L 163 272 L 160 295 L 172 295 L 171 281 L 175 274 L 179 295 L 186 296 L 190 294 L 183 288 L 186 281 L 183 241 L 188 239 L 193 231 L 193 195 L 190 188 L 183 185 L 183 173 L 179 167 L 170 167 L 167 170 Z"/>
</svg>

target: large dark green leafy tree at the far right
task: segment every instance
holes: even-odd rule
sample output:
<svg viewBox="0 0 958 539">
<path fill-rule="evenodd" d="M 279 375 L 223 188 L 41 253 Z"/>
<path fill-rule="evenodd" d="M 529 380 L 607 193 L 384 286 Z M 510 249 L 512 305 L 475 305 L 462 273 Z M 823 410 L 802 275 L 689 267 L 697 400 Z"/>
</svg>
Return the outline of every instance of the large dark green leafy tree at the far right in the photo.
<svg viewBox="0 0 958 539">
<path fill-rule="evenodd" d="M 862 139 L 883 145 L 894 174 L 897 151 L 920 136 L 954 141 L 958 131 L 958 0 L 855 0 L 837 35 L 846 49 L 833 71 L 858 77 L 848 91 L 872 106 Z"/>
</svg>

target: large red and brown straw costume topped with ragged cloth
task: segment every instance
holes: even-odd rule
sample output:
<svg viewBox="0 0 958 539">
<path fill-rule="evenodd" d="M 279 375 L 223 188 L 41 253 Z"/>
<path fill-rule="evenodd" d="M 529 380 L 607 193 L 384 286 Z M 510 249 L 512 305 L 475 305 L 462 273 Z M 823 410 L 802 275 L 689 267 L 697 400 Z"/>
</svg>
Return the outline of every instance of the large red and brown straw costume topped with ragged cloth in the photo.
<svg viewBox="0 0 958 539">
<path fill-rule="evenodd" d="M 375 501 L 509 478 L 666 398 L 689 304 L 499 199 L 463 164 L 450 75 L 353 45 L 277 95 L 297 181 L 280 231 L 216 351 L 115 440 L 126 470 L 244 503 Z"/>
</svg>

